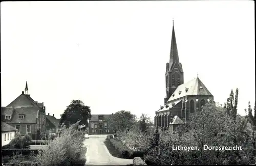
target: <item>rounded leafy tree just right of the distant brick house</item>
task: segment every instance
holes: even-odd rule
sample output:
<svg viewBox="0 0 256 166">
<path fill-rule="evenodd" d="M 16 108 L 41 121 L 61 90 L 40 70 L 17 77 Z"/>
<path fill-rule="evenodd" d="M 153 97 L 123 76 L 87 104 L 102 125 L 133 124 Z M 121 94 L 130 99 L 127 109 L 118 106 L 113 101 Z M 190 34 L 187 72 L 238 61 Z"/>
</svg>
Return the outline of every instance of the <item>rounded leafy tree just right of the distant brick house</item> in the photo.
<svg viewBox="0 0 256 166">
<path fill-rule="evenodd" d="M 130 111 L 120 110 L 107 120 L 109 128 L 115 131 L 127 131 L 136 125 L 136 116 Z"/>
</svg>

